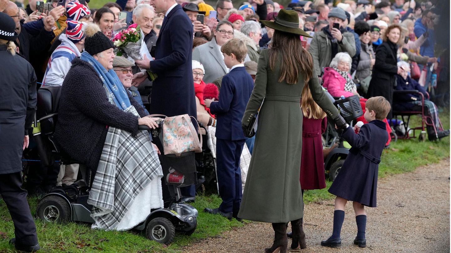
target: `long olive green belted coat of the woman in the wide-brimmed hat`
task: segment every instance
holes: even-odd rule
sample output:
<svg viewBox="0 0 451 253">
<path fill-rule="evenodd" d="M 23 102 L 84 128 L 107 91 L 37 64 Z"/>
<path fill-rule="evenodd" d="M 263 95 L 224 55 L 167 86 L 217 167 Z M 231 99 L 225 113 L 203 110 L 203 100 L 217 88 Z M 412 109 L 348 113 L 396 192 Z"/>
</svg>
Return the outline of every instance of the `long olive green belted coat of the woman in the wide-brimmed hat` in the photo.
<svg viewBox="0 0 451 253">
<path fill-rule="evenodd" d="M 269 68 L 269 51 L 262 50 L 258 59 L 254 89 L 242 123 L 249 125 L 263 98 L 258 128 L 238 217 L 271 223 L 294 221 L 303 217 L 299 173 L 302 149 L 302 111 L 299 105 L 305 77 L 289 85 L 278 82 L 279 56 L 276 68 Z M 338 110 L 323 92 L 316 72 L 308 86 L 313 99 L 335 118 Z"/>
</svg>

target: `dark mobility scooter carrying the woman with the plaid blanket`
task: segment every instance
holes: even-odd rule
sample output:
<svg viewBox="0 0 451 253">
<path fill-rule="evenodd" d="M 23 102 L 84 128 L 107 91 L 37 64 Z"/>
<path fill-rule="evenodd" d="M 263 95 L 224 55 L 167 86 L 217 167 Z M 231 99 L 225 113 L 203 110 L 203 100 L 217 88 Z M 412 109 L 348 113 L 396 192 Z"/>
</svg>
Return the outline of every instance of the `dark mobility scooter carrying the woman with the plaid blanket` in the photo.
<svg viewBox="0 0 451 253">
<path fill-rule="evenodd" d="M 73 161 L 58 147 L 54 140 L 55 126 L 58 121 L 58 105 L 60 86 L 42 86 L 37 92 L 37 117 L 41 128 L 41 141 L 47 152 L 41 153 L 41 163 L 53 163 L 54 157 L 59 157 L 60 164 L 78 163 Z M 35 120 L 35 125 L 37 125 Z M 148 127 L 140 126 L 140 130 L 150 131 Z M 84 169 L 80 164 L 80 171 Z M 90 216 L 92 206 L 87 204 L 90 183 L 93 175 L 86 173 L 87 186 L 69 185 L 57 187 L 44 195 L 37 204 L 36 215 L 46 222 L 81 221 L 94 223 Z M 175 201 L 169 208 L 152 209 L 147 218 L 135 226 L 135 230 L 145 230 L 148 239 L 161 244 L 170 244 L 175 231 L 191 235 L 197 227 L 198 211 L 189 204 L 178 203 L 180 190 L 174 185 L 168 185 Z"/>
</svg>

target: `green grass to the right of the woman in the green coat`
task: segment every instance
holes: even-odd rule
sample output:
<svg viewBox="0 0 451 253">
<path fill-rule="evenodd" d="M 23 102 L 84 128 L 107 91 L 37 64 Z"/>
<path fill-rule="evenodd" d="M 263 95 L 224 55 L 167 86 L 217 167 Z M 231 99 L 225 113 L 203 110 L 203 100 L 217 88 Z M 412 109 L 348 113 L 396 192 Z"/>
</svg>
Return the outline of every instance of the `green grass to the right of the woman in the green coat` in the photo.
<svg viewBox="0 0 451 253">
<path fill-rule="evenodd" d="M 440 108 L 439 113 L 444 129 L 450 129 L 450 109 Z M 415 127 L 421 124 L 421 117 L 412 116 L 409 126 Z M 419 131 L 416 132 L 419 134 Z M 379 178 L 411 172 L 415 168 L 438 163 L 443 158 L 450 156 L 450 137 L 445 137 L 440 141 L 419 142 L 418 138 L 410 140 L 391 141 L 390 148 L 384 149 L 379 164 Z M 326 180 L 327 187 L 321 190 L 307 190 L 304 192 L 305 203 L 318 202 L 323 199 L 333 199 L 335 196 L 327 192 L 332 182 Z"/>
</svg>

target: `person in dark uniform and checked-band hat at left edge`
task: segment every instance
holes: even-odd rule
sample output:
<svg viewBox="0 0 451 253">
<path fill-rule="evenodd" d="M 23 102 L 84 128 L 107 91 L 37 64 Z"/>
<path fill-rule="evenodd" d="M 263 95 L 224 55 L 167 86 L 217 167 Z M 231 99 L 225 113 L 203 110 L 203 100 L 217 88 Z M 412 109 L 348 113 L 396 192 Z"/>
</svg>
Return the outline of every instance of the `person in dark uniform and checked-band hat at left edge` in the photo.
<svg viewBox="0 0 451 253">
<path fill-rule="evenodd" d="M 36 226 L 22 185 L 22 151 L 36 107 L 36 75 L 30 63 L 15 54 L 14 20 L 0 12 L 0 194 L 14 222 L 10 243 L 25 252 L 39 249 Z M 5 42 L 6 41 L 6 42 Z"/>
</svg>

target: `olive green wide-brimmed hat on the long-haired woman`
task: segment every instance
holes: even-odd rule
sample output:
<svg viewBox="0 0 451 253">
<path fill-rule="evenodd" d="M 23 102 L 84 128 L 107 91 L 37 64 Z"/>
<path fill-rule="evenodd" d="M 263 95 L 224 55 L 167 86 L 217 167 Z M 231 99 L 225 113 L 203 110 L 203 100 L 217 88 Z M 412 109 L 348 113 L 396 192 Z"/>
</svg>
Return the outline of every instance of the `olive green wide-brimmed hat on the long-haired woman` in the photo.
<svg viewBox="0 0 451 253">
<path fill-rule="evenodd" d="M 281 9 L 274 21 L 261 20 L 260 22 L 265 26 L 277 31 L 288 32 L 312 38 L 312 36 L 308 35 L 307 32 L 304 32 L 304 30 L 299 28 L 299 16 L 298 12 L 295 10 Z"/>
</svg>

